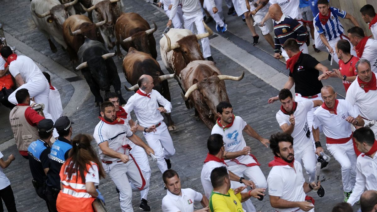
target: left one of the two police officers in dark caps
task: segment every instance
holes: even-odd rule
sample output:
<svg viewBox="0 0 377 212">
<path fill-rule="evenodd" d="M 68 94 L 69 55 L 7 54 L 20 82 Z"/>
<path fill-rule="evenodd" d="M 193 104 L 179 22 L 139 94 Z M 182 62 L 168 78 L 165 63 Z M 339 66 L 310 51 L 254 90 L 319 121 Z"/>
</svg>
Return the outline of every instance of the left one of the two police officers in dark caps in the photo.
<svg viewBox="0 0 377 212">
<path fill-rule="evenodd" d="M 32 183 L 37 195 L 46 201 L 47 208 L 50 211 L 49 203 L 46 198 L 46 179 L 50 167 L 50 154 L 52 131 L 54 122 L 51 119 L 43 119 L 38 125 L 39 139 L 32 142 L 28 148 L 29 166 L 33 177 Z"/>
</svg>

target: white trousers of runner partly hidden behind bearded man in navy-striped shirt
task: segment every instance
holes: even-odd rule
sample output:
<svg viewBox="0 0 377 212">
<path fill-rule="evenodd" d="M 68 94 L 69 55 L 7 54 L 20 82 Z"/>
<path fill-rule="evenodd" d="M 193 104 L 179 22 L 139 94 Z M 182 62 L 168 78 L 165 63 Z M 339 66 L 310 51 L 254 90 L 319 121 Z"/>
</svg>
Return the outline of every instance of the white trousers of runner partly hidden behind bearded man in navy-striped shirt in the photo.
<svg viewBox="0 0 377 212">
<path fill-rule="evenodd" d="M 133 158 L 137 161 L 139 168 L 141 169 L 141 172 L 143 172 L 144 177 L 146 178 L 148 184 L 147 188 L 140 191 L 141 198 L 144 200 L 147 200 L 148 198 L 148 192 L 149 192 L 149 181 L 150 181 L 150 167 L 148 162 L 147 154 L 145 153 L 144 149 L 140 146 L 134 145 L 130 151 L 130 154 L 132 154 Z M 137 185 L 134 185 L 130 182 L 131 187 L 133 190 L 138 189 Z"/>
</svg>

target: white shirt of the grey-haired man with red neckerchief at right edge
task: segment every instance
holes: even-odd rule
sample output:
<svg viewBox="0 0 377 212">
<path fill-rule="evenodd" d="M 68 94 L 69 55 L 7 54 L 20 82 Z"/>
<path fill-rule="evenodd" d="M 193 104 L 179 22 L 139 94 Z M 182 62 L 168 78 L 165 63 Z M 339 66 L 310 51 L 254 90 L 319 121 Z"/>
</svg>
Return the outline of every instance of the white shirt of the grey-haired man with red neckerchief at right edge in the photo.
<svg viewBox="0 0 377 212">
<path fill-rule="evenodd" d="M 369 90 L 366 93 L 364 89 L 360 87 L 356 78 L 347 90 L 346 100 L 351 103 L 351 105 L 359 108 L 362 117 L 368 118 L 369 120 L 377 120 L 377 90 Z"/>
</svg>

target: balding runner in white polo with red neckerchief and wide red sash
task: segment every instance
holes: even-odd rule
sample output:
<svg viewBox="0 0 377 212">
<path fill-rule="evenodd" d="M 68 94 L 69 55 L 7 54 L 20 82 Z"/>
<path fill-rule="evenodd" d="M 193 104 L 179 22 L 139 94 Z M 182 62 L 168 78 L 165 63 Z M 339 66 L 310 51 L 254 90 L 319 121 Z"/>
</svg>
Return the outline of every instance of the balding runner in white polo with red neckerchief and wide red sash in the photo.
<svg viewBox="0 0 377 212">
<path fill-rule="evenodd" d="M 316 154 L 323 151 L 319 140 L 319 127 L 322 126 L 326 147 L 342 167 L 344 202 L 347 202 L 356 182 L 356 154 L 349 123 L 364 126 L 364 120 L 348 101 L 336 99 L 337 93 L 332 86 L 323 86 L 321 94 L 324 102 L 314 111 L 313 119 Z"/>
</svg>

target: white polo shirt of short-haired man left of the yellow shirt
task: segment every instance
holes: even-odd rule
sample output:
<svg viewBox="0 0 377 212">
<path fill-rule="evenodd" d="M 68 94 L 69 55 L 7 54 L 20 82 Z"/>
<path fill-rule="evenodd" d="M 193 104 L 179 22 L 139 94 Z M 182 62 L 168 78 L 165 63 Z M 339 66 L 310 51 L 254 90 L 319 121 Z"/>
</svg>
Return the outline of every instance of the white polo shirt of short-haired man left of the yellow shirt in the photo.
<svg viewBox="0 0 377 212">
<path fill-rule="evenodd" d="M 169 190 L 162 198 L 163 212 L 193 212 L 194 202 L 202 201 L 203 195 L 193 189 L 181 189 L 182 195 L 172 194 Z"/>
</svg>

